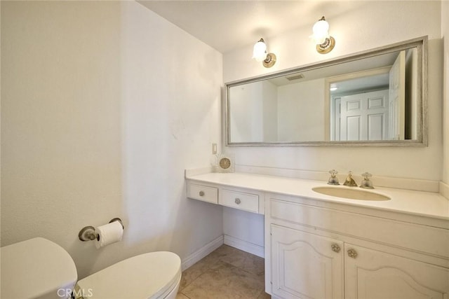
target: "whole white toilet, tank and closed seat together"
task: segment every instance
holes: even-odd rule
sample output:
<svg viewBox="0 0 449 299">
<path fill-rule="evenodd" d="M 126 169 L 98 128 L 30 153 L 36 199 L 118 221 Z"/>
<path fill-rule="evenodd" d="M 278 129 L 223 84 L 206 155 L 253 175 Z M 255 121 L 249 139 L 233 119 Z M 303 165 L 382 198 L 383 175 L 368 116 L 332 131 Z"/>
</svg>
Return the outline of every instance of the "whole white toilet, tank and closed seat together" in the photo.
<svg viewBox="0 0 449 299">
<path fill-rule="evenodd" d="M 181 260 L 168 251 L 127 258 L 78 282 L 72 257 L 48 239 L 1 247 L 0 256 L 3 299 L 174 299 L 181 280 Z"/>
</svg>

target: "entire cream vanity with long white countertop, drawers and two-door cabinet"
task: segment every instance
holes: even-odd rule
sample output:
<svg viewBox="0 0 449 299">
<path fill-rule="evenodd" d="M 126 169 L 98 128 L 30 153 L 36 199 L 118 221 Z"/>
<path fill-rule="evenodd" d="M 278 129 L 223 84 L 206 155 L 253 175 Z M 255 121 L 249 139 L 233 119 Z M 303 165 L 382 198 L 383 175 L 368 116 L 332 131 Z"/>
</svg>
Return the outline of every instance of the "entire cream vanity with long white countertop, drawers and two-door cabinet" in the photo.
<svg viewBox="0 0 449 299">
<path fill-rule="evenodd" d="M 273 298 L 449 299 L 449 202 L 441 195 L 378 188 L 391 200 L 350 200 L 314 192 L 320 181 L 186 178 L 189 198 L 264 214 L 261 256 Z"/>
</svg>

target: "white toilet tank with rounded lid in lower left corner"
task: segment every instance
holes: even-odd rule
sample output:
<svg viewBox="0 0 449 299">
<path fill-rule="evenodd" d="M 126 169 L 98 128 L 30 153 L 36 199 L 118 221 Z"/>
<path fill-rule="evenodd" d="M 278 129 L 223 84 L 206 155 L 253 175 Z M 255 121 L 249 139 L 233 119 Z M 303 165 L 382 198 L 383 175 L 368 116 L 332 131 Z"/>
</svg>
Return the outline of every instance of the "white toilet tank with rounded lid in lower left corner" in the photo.
<svg viewBox="0 0 449 299">
<path fill-rule="evenodd" d="M 2 299 L 70 298 L 76 267 L 58 244 L 36 237 L 1 247 L 0 258 Z"/>
</svg>

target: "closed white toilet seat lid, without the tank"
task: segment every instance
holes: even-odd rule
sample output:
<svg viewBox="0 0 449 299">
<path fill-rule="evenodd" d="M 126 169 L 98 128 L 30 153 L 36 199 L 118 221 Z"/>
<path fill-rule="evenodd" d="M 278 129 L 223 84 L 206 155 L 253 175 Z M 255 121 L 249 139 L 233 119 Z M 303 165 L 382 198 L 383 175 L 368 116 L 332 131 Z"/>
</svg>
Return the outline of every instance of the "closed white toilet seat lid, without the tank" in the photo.
<svg viewBox="0 0 449 299">
<path fill-rule="evenodd" d="M 95 298 L 160 298 L 181 277 L 181 259 L 156 251 L 127 258 L 78 281 L 78 291 Z"/>
</svg>

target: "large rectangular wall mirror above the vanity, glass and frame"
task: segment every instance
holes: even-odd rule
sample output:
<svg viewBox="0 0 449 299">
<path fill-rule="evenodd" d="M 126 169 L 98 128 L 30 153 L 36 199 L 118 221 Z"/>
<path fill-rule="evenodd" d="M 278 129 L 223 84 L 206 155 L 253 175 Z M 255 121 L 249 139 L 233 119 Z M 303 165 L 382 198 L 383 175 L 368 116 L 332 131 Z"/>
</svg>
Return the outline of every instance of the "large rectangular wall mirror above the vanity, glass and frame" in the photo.
<svg viewBox="0 0 449 299">
<path fill-rule="evenodd" d="M 427 146 L 427 36 L 226 86 L 228 146 Z"/>
</svg>

